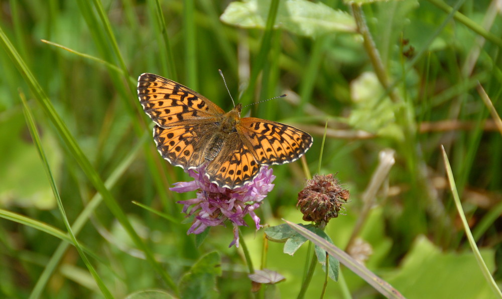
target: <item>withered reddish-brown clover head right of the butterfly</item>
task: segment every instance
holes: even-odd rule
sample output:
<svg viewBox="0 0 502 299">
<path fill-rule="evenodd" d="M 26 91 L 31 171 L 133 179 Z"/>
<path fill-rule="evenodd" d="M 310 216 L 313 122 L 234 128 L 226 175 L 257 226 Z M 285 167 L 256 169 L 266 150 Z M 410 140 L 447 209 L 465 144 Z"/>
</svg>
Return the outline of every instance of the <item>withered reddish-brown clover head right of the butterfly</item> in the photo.
<svg viewBox="0 0 502 299">
<path fill-rule="evenodd" d="M 342 189 L 332 174 L 316 174 L 298 193 L 296 207 L 300 207 L 303 220 L 327 224 L 329 219 L 338 217 L 338 211 L 348 198 L 348 190 Z"/>
</svg>

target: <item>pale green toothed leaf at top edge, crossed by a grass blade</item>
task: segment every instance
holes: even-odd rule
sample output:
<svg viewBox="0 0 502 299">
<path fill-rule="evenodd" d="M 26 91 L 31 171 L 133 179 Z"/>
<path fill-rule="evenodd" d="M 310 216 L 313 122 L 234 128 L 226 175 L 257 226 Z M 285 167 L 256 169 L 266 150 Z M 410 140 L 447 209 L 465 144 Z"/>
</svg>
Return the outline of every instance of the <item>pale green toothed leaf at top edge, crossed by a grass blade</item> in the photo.
<svg viewBox="0 0 502 299">
<path fill-rule="evenodd" d="M 270 0 L 232 2 L 221 15 L 221 21 L 243 28 L 265 29 Z M 352 16 L 333 10 L 322 3 L 286 0 L 279 4 L 275 28 L 311 38 L 328 33 L 355 33 Z"/>
</svg>

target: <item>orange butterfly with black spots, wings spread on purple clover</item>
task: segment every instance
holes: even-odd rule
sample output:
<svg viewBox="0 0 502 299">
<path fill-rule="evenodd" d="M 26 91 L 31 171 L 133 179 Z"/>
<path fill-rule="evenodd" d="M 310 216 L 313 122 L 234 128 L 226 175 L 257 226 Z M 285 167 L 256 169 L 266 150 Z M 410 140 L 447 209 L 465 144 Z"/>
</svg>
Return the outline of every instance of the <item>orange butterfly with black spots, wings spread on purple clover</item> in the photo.
<svg viewBox="0 0 502 299">
<path fill-rule="evenodd" d="M 312 136 L 302 130 L 240 118 L 241 104 L 225 113 L 206 97 L 158 75 L 140 75 L 138 98 L 155 122 L 162 157 L 186 170 L 207 163 L 205 176 L 220 187 L 242 187 L 262 165 L 293 162 L 312 145 Z"/>
</svg>

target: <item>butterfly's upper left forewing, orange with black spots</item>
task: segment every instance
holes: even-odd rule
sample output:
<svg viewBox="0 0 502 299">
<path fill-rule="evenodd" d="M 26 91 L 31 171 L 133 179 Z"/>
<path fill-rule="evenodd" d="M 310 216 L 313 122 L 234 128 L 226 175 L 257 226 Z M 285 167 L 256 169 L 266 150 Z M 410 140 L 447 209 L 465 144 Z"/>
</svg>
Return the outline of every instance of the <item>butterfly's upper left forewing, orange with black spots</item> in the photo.
<svg viewBox="0 0 502 299">
<path fill-rule="evenodd" d="M 148 116 L 164 128 L 214 122 L 215 117 L 224 113 L 188 87 L 149 73 L 138 78 L 138 97 Z"/>
</svg>

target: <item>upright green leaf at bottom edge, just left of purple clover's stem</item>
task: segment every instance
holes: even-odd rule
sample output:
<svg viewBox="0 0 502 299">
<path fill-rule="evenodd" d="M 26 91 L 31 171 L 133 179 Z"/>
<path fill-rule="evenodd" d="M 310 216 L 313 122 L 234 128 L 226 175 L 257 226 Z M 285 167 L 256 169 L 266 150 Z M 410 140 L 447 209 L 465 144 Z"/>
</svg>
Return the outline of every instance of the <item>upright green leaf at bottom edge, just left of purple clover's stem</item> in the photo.
<svg viewBox="0 0 502 299">
<path fill-rule="evenodd" d="M 220 264 L 221 258 L 216 251 L 202 256 L 181 278 L 179 283 L 181 297 L 217 298 L 216 276 L 221 275 Z"/>
</svg>

